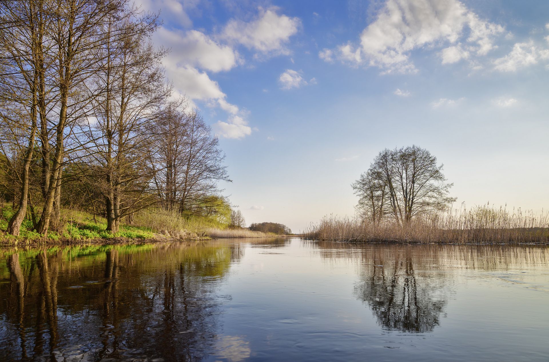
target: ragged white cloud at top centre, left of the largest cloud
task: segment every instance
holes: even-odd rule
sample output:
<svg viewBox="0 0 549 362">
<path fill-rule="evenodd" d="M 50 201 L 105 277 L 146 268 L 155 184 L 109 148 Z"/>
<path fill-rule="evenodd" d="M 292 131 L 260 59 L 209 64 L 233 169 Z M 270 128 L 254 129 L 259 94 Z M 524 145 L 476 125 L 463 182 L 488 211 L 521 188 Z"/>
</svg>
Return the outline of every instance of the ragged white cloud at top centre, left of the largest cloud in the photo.
<svg viewBox="0 0 549 362">
<path fill-rule="evenodd" d="M 259 16 L 251 22 L 230 20 L 221 37 L 262 54 L 290 54 L 286 44 L 289 38 L 298 32 L 301 20 L 278 15 L 277 10 L 276 7 L 266 10 L 259 8 Z"/>
</svg>

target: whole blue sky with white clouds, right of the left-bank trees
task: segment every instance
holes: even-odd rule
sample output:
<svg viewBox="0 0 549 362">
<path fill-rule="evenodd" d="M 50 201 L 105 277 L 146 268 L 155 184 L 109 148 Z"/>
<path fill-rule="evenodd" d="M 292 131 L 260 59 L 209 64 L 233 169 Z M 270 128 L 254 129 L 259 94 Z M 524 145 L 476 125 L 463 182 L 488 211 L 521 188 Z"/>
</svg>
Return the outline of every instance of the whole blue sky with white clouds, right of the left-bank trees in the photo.
<svg viewBox="0 0 549 362">
<path fill-rule="evenodd" d="M 458 204 L 549 207 L 549 1 L 138 4 L 161 10 L 166 76 L 219 135 L 248 224 L 352 216 L 350 184 L 412 144 Z"/>
</svg>

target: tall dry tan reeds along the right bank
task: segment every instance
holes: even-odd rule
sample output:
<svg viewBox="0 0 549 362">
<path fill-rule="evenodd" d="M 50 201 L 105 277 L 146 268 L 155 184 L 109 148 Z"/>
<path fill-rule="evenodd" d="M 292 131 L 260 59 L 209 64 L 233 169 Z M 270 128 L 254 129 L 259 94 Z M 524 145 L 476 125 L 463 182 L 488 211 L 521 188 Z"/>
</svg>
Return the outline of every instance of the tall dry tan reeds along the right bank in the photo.
<svg viewBox="0 0 549 362">
<path fill-rule="evenodd" d="M 537 215 L 520 209 L 461 207 L 399 224 L 373 223 L 349 218 L 326 217 L 312 225 L 308 239 L 336 241 L 396 241 L 487 244 L 549 244 L 549 214 Z"/>
</svg>

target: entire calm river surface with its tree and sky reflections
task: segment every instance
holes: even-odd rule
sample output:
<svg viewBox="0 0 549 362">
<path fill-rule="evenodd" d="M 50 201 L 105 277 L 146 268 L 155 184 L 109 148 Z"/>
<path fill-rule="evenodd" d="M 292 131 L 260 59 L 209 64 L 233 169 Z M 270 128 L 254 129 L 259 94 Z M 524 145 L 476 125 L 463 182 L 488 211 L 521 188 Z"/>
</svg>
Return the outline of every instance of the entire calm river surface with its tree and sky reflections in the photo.
<svg viewBox="0 0 549 362">
<path fill-rule="evenodd" d="M 0 251 L 2 360 L 549 360 L 549 248 Z"/>
</svg>

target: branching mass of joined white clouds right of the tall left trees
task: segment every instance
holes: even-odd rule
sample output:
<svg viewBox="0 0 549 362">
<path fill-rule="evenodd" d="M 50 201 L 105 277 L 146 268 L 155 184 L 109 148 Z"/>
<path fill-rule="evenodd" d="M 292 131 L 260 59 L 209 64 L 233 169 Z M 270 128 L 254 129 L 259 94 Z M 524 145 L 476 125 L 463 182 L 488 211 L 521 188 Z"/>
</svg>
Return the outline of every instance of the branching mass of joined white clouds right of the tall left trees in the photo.
<svg viewBox="0 0 549 362">
<path fill-rule="evenodd" d="M 217 35 L 203 31 L 184 30 L 192 26 L 188 11 L 197 8 L 199 0 L 137 0 L 145 10 L 162 8 L 163 17 L 176 22 L 183 29 L 160 29 L 154 42 L 171 48 L 163 59 L 166 76 L 173 83 L 176 93 L 184 94 L 192 106 L 203 101 L 209 107 L 227 112 L 226 121 L 218 121 L 214 128 L 220 137 L 239 139 L 251 134 L 253 128 L 245 120 L 245 112 L 227 101 L 219 83 L 211 74 L 229 71 L 244 63 L 236 48 L 240 45 L 264 55 L 289 54 L 287 43 L 301 24 L 299 18 L 279 15 L 275 7 L 259 8 L 250 22 L 229 20 Z M 306 82 L 305 82 L 306 83 Z M 254 128 L 255 129 L 255 128 Z"/>
</svg>

